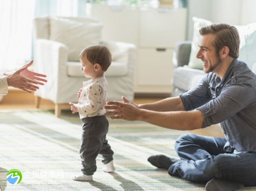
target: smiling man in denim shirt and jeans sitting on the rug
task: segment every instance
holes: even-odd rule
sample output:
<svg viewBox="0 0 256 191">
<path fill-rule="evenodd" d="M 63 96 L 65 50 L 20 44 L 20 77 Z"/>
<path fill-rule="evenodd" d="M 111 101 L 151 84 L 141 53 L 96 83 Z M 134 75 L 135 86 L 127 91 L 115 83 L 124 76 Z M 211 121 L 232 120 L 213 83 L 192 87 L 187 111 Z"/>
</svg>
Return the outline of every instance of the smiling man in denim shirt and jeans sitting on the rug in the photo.
<svg viewBox="0 0 256 191">
<path fill-rule="evenodd" d="M 136 105 L 108 102 L 111 119 L 141 120 L 177 130 L 221 123 L 225 138 L 183 135 L 175 144 L 180 159 L 155 155 L 148 161 L 172 176 L 207 182 L 206 190 L 256 186 L 256 75 L 238 61 L 239 35 L 234 26 L 200 29 L 197 58 L 207 76 L 179 97 Z"/>
</svg>

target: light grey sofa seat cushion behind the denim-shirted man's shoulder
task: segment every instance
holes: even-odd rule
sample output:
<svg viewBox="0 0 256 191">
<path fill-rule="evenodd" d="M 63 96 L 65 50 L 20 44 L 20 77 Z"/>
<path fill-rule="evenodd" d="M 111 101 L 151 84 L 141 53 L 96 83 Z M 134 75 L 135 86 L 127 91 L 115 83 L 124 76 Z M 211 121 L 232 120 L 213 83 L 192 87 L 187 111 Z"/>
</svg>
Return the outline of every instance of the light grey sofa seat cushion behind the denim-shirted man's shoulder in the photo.
<svg viewBox="0 0 256 191">
<path fill-rule="evenodd" d="M 173 72 L 173 85 L 184 91 L 196 86 L 202 78 L 206 76 L 203 70 L 189 68 L 187 66 L 178 67 Z"/>
</svg>

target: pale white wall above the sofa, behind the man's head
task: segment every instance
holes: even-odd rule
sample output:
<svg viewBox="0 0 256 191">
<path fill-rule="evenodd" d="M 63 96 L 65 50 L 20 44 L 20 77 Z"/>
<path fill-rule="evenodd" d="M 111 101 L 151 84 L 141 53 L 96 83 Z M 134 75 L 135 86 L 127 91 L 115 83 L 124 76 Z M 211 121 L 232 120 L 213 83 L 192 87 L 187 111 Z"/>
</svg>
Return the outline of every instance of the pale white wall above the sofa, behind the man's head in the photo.
<svg viewBox="0 0 256 191">
<path fill-rule="evenodd" d="M 214 23 L 247 25 L 256 22 L 256 0 L 188 0 L 187 39 L 192 39 L 192 17 Z"/>
</svg>

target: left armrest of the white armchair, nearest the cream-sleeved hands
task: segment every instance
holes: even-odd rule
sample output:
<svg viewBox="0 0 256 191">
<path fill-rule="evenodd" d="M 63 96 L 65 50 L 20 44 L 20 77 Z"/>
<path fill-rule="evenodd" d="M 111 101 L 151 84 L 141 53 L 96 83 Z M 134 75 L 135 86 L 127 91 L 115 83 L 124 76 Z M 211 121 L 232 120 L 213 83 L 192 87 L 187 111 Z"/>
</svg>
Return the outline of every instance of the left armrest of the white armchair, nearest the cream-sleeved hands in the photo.
<svg viewBox="0 0 256 191">
<path fill-rule="evenodd" d="M 48 82 L 35 92 L 35 96 L 52 100 L 60 91 L 57 84 L 66 76 L 68 47 L 60 42 L 37 39 L 35 41 L 35 68 L 39 73 L 47 75 Z"/>
</svg>

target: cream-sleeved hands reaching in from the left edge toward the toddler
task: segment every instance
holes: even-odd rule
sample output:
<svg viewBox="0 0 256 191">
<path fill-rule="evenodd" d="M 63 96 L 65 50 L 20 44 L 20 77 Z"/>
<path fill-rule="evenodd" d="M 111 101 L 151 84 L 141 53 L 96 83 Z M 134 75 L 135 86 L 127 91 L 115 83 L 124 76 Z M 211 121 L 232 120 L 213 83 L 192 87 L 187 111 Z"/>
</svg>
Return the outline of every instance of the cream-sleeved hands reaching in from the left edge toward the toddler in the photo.
<svg viewBox="0 0 256 191">
<path fill-rule="evenodd" d="M 33 60 L 16 71 L 7 72 L 0 75 L 0 95 L 6 95 L 8 93 L 8 86 L 22 89 L 23 91 L 31 93 L 31 91 L 36 91 L 36 89 L 39 89 L 37 84 L 44 85 L 42 82 L 47 82 L 47 80 L 41 77 L 46 77 L 46 75 L 31 72 L 27 69 L 32 64 Z"/>
</svg>

